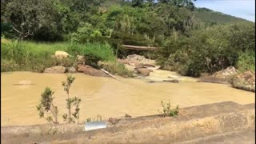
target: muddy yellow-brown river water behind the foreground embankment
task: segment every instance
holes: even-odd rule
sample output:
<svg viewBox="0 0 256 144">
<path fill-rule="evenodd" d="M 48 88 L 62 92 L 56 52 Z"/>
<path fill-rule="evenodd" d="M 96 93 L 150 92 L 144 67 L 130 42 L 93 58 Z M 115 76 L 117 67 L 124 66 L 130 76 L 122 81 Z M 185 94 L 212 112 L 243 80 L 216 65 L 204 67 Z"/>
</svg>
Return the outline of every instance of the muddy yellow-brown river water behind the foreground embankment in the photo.
<svg viewBox="0 0 256 144">
<path fill-rule="evenodd" d="M 159 73 L 152 73 L 156 79 Z M 50 86 L 54 90 L 54 104 L 58 106 L 58 120 L 66 113 L 66 94 L 62 81 L 66 74 L 38 74 L 32 72 L 1 73 L 1 125 L 18 126 L 46 123 L 38 117 L 36 106 L 40 94 Z M 166 74 L 166 72 L 165 72 Z M 125 114 L 133 117 L 158 114 L 161 101 L 180 107 L 196 106 L 214 102 L 233 101 L 240 104 L 252 103 L 254 93 L 237 90 L 228 85 L 193 82 L 148 83 L 146 79 L 91 77 L 73 74 L 76 79 L 70 96 L 82 98 L 80 122 L 86 118 L 120 118 Z M 182 79 L 182 78 L 181 78 Z"/>
</svg>

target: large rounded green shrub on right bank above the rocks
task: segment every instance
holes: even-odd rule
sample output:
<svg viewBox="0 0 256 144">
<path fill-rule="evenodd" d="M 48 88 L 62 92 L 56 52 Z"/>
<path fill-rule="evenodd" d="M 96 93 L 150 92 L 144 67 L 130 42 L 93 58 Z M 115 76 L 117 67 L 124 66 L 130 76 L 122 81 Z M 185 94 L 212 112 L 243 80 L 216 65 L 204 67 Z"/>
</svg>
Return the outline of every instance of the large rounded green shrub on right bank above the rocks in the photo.
<svg viewBox="0 0 256 144">
<path fill-rule="evenodd" d="M 158 63 L 194 77 L 201 73 L 213 74 L 228 66 L 237 66 L 242 70 L 254 69 L 253 30 L 252 25 L 243 23 L 218 25 L 194 30 L 189 38 L 170 38 L 170 42 L 158 52 Z M 251 54 L 244 53 L 248 50 Z"/>
</svg>

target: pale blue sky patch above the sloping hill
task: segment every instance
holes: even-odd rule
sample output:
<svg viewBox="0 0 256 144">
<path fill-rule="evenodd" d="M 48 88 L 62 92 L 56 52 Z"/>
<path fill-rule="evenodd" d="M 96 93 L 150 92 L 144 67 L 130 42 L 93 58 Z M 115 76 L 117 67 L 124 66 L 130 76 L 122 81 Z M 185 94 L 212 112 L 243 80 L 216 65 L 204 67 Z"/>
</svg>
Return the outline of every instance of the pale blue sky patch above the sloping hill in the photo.
<svg viewBox="0 0 256 144">
<path fill-rule="evenodd" d="M 255 0 L 197 0 L 194 4 L 255 22 Z"/>
</svg>

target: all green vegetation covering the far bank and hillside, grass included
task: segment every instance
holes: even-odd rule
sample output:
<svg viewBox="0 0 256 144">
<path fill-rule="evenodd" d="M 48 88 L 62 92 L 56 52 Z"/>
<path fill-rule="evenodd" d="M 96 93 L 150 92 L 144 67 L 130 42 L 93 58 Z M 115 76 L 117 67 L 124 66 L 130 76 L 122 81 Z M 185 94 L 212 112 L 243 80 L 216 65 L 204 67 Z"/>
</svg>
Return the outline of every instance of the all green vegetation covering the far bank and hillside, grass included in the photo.
<svg viewBox="0 0 256 144">
<path fill-rule="evenodd" d="M 130 53 L 122 44 L 161 47 L 144 54 L 190 76 L 255 66 L 254 23 L 197 9 L 192 0 L 6 0 L 1 8 L 1 36 L 34 41 L 2 44 L 2 71 L 42 71 L 59 63 L 50 57 L 55 50 L 65 50 L 112 62 L 107 70 L 128 74 L 114 61 Z"/>
</svg>

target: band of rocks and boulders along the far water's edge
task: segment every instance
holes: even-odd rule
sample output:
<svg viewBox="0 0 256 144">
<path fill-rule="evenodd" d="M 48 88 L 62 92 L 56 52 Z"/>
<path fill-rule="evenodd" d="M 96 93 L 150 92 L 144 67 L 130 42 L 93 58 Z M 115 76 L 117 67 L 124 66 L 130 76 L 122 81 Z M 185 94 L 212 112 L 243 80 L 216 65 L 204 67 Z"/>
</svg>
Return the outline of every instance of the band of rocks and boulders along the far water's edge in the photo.
<svg viewBox="0 0 256 144">
<path fill-rule="evenodd" d="M 58 59 L 70 57 L 65 51 L 56 51 L 53 56 Z M 85 65 L 86 58 L 78 55 L 76 63 L 71 67 L 53 66 L 46 68 L 44 73 L 63 74 L 63 73 L 84 73 L 97 77 L 109 77 L 110 73 L 106 70 L 98 70 L 92 66 Z M 185 77 L 173 71 L 160 70 L 161 66 L 156 65 L 154 60 L 145 58 L 138 54 L 128 55 L 126 58 L 117 59 L 117 62 L 126 66 L 127 70 L 133 72 L 134 78 L 142 78 L 146 82 L 174 82 L 190 81 L 190 82 L 214 82 L 222 84 L 231 84 L 234 88 L 255 91 L 255 71 L 249 70 L 239 73 L 233 66 L 227 67 L 225 70 L 218 71 L 214 74 L 205 74 L 201 78 Z M 106 62 L 98 62 L 98 66 L 108 65 Z"/>
</svg>

